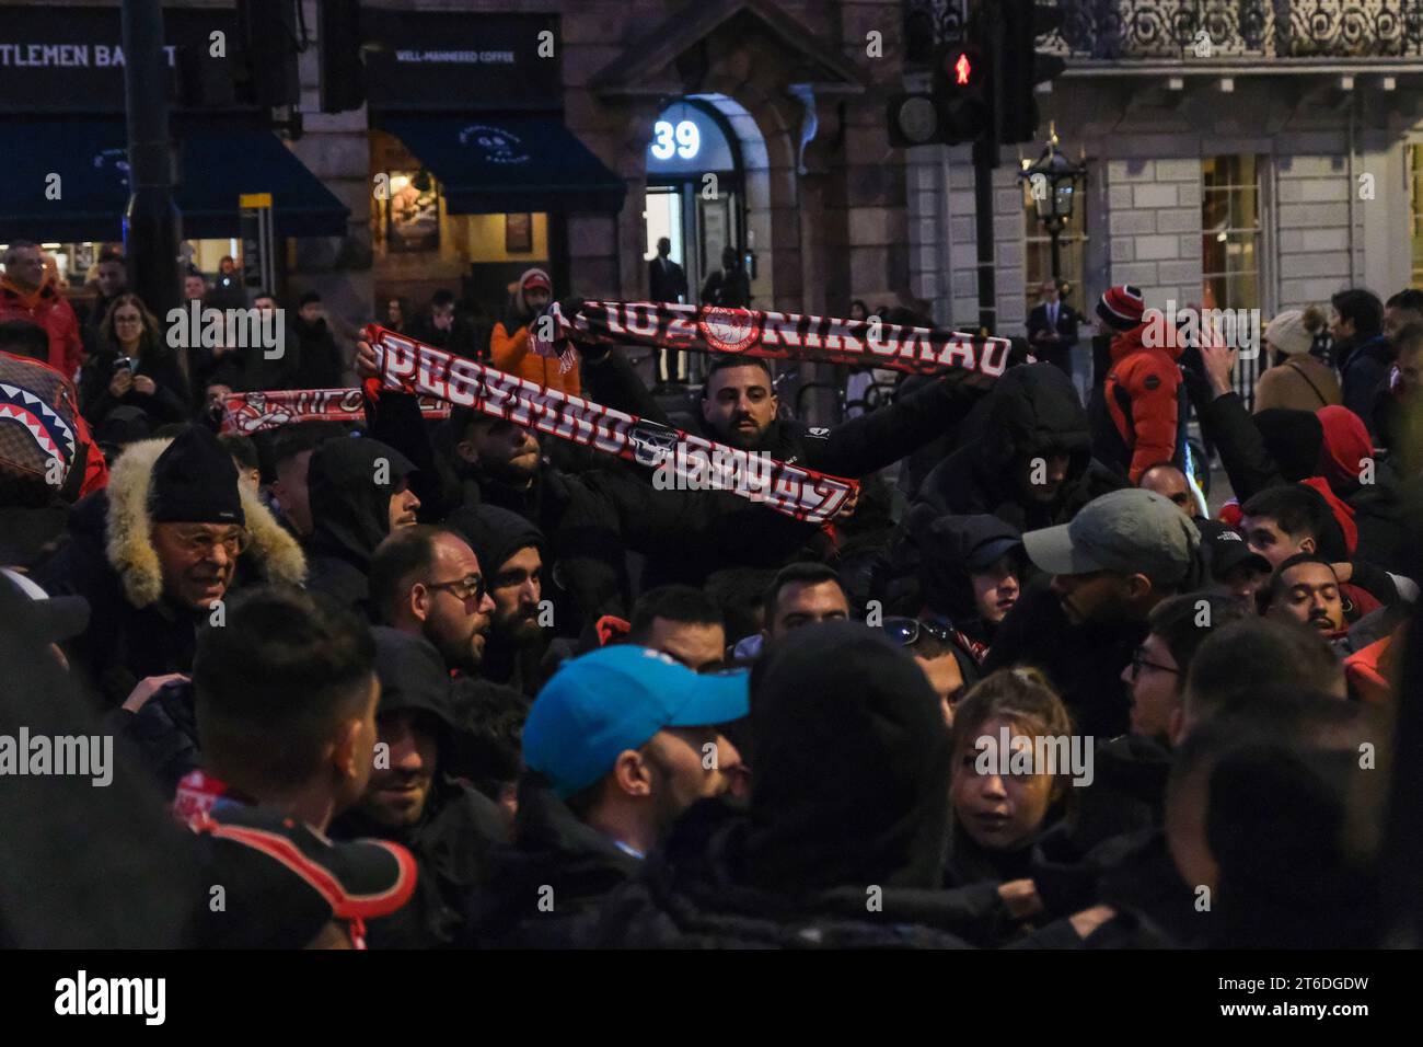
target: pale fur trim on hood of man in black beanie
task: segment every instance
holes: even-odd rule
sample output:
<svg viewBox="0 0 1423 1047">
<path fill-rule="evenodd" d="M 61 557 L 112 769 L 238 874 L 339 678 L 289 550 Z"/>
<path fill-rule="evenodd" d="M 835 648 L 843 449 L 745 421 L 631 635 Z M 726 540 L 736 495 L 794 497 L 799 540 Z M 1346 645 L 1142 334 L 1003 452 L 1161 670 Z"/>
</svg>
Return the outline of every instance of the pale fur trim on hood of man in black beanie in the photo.
<svg viewBox="0 0 1423 1047">
<path fill-rule="evenodd" d="M 118 573 L 124 597 L 134 607 L 148 607 L 164 591 L 162 568 L 152 541 L 148 491 L 154 463 L 172 440 L 139 440 L 128 444 L 108 479 L 108 517 L 104 521 L 104 553 Z M 242 489 L 242 513 L 252 544 L 242 564 L 266 581 L 300 585 L 306 578 L 302 547 L 250 491 Z"/>
</svg>

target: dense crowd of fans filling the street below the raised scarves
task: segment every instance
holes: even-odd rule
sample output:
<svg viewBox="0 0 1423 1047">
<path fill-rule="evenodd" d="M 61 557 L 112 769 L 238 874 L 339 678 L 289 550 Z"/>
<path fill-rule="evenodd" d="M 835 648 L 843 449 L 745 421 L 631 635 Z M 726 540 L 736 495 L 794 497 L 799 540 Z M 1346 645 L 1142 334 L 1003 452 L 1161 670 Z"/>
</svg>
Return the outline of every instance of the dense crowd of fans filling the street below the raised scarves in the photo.
<svg viewBox="0 0 1423 1047">
<path fill-rule="evenodd" d="M 83 905 L 41 899 L 53 922 L 3 910 L 0 939 L 1389 942 L 1423 293 L 1274 318 L 1252 412 L 1237 349 L 1144 336 L 1131 286 L 1097 301 L 1084 403 L 1064 372 L 1089 319 L 1044 286 L 996 380 L 906 377 L 834 426 L 750 356 L 712 360 L 693 417 L 622 348 L 559 366 L 529 338 L 555 298 L 536 269 L 488 345 L 453 296 L 384 318 L 861 481 L 813 524 L 474 409 L 425 417 L 367 382 L 371 346 L 340 359 L 314 295 L 290 359 L 174 350 L 110 256 L 80 325 L 40 254 L 11 245 L 0 285 L 0 389 L 24 390 L 0 397 L 6 719 L 117 739 L 122 803 L 55 802 L 74 870 L 36 876 L 162 917 L 75 927 Z M 343 368 L 359 423 L 245 437 L 211 410 Z M 1234 496 L 1214 511 L 1192 417 Z"/>
</svg>

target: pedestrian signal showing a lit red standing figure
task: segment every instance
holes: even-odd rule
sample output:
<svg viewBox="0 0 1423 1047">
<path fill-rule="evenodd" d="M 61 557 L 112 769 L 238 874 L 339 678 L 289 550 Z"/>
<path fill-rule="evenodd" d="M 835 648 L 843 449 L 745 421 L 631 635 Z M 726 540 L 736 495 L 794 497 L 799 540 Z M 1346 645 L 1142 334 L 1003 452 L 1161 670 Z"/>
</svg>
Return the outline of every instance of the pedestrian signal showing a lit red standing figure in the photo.
<svg viewBox="0 0 1423 1047">
<path fill-rule="evenodd" d="M 933 56 L 933 93 L 889 98 L 889 144 L 958 145 L 978 140 L 992 125 L 990 88 L 988 63 L 978 48 L 941 47 Z"/>
</svg>

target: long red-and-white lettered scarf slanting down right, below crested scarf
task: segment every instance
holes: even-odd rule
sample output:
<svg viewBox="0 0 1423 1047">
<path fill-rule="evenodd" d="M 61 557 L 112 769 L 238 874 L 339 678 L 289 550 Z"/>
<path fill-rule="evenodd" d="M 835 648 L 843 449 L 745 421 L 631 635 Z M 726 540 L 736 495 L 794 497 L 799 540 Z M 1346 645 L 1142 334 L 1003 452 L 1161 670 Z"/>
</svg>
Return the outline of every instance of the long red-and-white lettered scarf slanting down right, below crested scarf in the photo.
<svg viewBox="0 0 1423 1047">
<path fill-rule="evenodd" d="M 642 466 L 666 464 L 687 487 L 729 490 L 807 523 L 830 520 L 859 490 L 854 480 L 751 454 L 625 415 L 454 356 L 374 323 L 366 328 L 364 335 L 376 350 L 380 383 L 386 389 L 474 407 Z"/>
</svg>

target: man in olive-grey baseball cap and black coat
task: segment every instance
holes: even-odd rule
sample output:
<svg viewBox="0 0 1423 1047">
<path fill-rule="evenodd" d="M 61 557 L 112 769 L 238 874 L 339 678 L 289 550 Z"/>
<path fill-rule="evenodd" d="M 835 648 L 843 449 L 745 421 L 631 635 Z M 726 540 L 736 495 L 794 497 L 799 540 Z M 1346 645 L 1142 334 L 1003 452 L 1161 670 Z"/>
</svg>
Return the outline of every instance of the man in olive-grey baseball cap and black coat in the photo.
<svg viewBox="0 0 1423 1047">
<path fill-rule="evenodd" d="M 1161 600 L 1200 574 L 1201 534 L 1171 501 L 1130 487 L 1103 494 L 1070 524 L 1023 534 L 1047 585 L 1029 585 L 993 637 L 985 672 L 1042 670 L 1083 735 L 1114 738 L 1130 726 L 1123 670 Z"/>
</svg>

